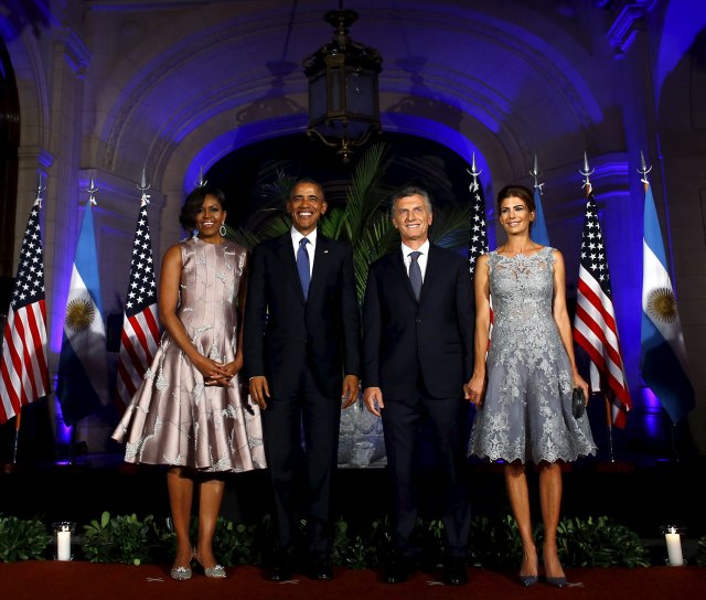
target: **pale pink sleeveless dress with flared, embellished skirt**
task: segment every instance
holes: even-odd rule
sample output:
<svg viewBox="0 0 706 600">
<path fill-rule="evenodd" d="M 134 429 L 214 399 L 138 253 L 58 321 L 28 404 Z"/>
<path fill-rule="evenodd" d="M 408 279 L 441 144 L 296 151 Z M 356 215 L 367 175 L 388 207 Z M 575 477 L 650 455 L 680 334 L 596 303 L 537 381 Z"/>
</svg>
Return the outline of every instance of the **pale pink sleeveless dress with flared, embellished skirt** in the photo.
<svg viewBox="0 0 706 600">
<path fill-rule="evenodd" d="M 246 250 L 193 238 L 181 242 L 181 258 L 179 319 L 202 354 L 233 361 Z M 228 387 L 205 386 L 168 332 L 113 437 L 132 463 L 212 472 L 265 467 L 259 409 L 240 397 L 237 375 Z"/>
</svg>

